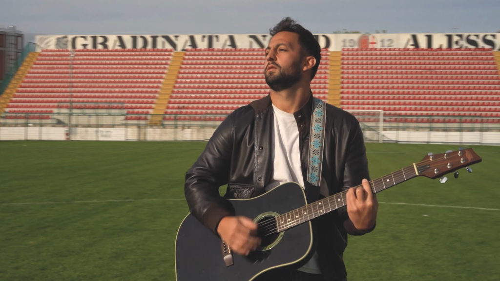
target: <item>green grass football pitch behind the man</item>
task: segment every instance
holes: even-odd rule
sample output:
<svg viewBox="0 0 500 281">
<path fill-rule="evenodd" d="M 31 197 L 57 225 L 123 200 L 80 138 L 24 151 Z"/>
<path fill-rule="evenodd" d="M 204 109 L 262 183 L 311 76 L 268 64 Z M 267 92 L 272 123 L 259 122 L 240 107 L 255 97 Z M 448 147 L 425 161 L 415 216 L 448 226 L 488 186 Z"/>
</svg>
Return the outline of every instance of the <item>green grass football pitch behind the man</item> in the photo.
<svg viewBox="0 0 500 281">
<path fill-rule="evenodd" d="M 186 169 L 204 142 L 0 142 L 0 280 L 174 280 Z M 367 144 L 372 178 L 457 145 Z M 500 147 L 448 182 L 378 194 L 349 281 L 499 280 Z M 195 270 L 193 268 L 193 270 Z"/>
</svg>

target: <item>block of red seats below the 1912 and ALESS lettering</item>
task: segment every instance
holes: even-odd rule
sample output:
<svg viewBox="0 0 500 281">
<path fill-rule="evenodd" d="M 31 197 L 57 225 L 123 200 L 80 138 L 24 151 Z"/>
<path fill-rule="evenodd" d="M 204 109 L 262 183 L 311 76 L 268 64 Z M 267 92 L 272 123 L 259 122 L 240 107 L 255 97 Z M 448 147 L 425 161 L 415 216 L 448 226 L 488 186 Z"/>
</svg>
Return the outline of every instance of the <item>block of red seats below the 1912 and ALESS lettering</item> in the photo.
<svg viewBox="0 0 500 281">
<path fill-rule="evenodd" d="M 500 116 L 500 77 L 491 49 L 345 48 L 341 79 L 343 109 L 384 110 L 386 121 Z"/>
</svg>

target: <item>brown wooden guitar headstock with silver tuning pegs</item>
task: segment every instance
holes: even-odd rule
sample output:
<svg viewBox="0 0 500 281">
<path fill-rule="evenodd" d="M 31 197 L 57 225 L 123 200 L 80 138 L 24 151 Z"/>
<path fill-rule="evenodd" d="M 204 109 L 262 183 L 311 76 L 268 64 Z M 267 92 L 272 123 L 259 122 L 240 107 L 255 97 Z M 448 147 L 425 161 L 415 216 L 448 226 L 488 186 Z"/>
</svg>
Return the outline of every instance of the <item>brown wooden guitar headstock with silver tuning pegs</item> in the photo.
<svg viewBox="0 0 500 281">
<path fill-rule="evenodd" d="M 418 175 L 437 178 L 446 173 L 481 161 L 472 148 L 427 155 L 415 163 Z"/>
</svg>

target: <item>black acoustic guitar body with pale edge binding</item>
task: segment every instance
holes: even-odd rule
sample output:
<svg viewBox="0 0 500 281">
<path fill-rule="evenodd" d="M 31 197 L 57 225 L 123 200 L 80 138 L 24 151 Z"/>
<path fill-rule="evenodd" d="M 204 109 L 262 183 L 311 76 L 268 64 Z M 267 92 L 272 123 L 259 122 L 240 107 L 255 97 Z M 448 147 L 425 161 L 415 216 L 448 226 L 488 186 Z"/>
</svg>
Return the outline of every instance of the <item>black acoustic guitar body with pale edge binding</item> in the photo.
<svg viewBox="0 0 500 281">
<path fill-rule="evenodd" d="M 304 206 L 305 194 L 298 184 L 287 182 L 251 199 L 231 199 L 236 215 L 255 222 Z M 233 253 L 233 264 L 226 266 L 220 238 L 188 214 L 175 239 L 177 281 L 252 280 L 273 268 L 300 264 L 311 253 L 312 229 L 309 221 L 285 231 L 263 237 L 260 248 L 243 256 Z"/>
</svg>

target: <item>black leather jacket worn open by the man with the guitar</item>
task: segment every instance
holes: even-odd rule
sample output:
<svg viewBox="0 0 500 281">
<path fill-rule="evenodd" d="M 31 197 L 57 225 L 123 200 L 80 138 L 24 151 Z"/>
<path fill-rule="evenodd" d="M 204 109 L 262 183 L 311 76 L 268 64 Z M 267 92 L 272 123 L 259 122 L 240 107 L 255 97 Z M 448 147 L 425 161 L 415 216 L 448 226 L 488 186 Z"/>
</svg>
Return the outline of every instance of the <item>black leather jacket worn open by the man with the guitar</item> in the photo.
<svg viewBox="0 0 500 281">
<path fill-rule="evenodd" d="M 216 233 L 223 216 L 231 215 L 225 198 L 250 198 L 264 192 L 273 167 L 273 110 L 270 96 L 234 110 L 219 125 L 204 151 L 186 172 L 184 192 L 189 210 Z M 299 130 L 302 174 L 306 182 L 312 94 L 294 113 Z M 351 114 L 326 104 L 325 138 L 319 197 L 356 186 L 369 178 L 359 123 Z M 225 198 L 219 187 L 227 184 Z M 317 194 L 316 194 L 317 195 Z M 309 200 L 316 200 L 309 198 Z M 345 277 L 342 253 L 347 245 L 345 208 L 315 218 L 320 267 L 329 280 Z"/>
</svg>

